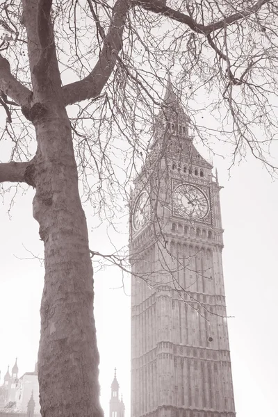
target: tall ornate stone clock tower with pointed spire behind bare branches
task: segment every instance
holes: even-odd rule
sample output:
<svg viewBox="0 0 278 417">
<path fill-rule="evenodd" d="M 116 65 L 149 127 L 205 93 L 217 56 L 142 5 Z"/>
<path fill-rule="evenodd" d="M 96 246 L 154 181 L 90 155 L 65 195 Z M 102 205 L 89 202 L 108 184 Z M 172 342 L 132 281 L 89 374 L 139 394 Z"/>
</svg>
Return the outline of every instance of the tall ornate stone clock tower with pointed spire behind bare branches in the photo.
<svg viewBox="0 0 278 417">
<path fill-rule="evenodd" d="M 131 195 L 131 417 L 235 417 L 220 186 L 170 79 Z"/>
</svg>

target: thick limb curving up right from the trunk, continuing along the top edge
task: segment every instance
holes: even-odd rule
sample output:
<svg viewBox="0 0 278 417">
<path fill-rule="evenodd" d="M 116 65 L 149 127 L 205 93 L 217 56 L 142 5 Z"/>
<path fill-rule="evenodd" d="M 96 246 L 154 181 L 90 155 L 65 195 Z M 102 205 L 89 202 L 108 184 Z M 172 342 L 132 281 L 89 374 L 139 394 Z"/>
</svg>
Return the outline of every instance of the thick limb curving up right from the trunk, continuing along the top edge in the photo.
<svg viewBox="0 0 278 417">
<path fill-rule="evenodd" d="M 46 0 L 44 0 L 46 1 Z M 63 96 L 65 105 L 74 104 L 76 102 L 92 99 L 97 97 L 101 90 L 104 88 L 106 81 L 111 75 L 113 68 L 115 67 L 116 56 L 122 49 L 122 34 L 124 32 L 124 24 L 126 21 L 126 15 L 129 8 L 139 6 L 145 10 L 149 10 L 153 13 L 165 15 L 170 19 L 176 20 L 186 24 L 195 33 L 208 35 L 213 31 L 222 29 L 228 25 L 234 24 L 240 19 L 246 18 L 253 13 L 256 13 L 265 3 L 270 0 L 258 0 L 254 3 L 254 6 L 240 10 L 238 13 L 234 13 L 218 22 L 213 22 L 208 25 L 198 24 L 195 20 L 185 15 L 184 13 L 174 10 L 168 6 L 165 6 L 163 0 L 117 0 L 113 7 L 113 15 L 111 19 L 111 25 L 105 36 L 102 28 L 99 28 L 101 38 L 104 40 L 104 46 L 102 47 L 100 58 L 95 65 L 95 68 L 81 81 L 67 84 L 63 87 Z M 92 10 L 92 3 L 88 0 L 92 15 L 97 22 L 95 12 Z M 98 24 L 97 24 L 98 26 Z"/>
</svg>

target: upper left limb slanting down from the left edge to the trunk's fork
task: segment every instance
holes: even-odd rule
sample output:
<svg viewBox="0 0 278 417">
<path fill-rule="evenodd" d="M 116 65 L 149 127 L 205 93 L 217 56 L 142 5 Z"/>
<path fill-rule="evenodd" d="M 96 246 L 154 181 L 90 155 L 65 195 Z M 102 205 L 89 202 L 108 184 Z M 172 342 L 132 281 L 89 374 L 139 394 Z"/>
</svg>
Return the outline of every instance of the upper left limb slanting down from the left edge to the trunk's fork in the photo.
<svg viewBox="0 0 278 417">
<path fill-rule="evenodd" d="M 21 106 L 31 101 L 32 92 L 10 72 L 10 64 L 0 55 L 0 90 Z"/>
</svg>

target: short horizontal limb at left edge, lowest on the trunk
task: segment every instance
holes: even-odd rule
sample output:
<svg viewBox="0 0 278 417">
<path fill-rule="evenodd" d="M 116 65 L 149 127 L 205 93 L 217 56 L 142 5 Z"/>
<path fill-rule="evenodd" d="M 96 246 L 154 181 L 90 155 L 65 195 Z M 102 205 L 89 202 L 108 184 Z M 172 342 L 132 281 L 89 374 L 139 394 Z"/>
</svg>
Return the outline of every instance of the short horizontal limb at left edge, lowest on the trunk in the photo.
<svg viewBox="0 0 278 417">
<path fill-rule="evenodd" d="M 2 182 L 25 182 L 34 186 L 31 179 L 33 160 L 29 162 L 0 163 L 0 183 Z"/>
</svg>

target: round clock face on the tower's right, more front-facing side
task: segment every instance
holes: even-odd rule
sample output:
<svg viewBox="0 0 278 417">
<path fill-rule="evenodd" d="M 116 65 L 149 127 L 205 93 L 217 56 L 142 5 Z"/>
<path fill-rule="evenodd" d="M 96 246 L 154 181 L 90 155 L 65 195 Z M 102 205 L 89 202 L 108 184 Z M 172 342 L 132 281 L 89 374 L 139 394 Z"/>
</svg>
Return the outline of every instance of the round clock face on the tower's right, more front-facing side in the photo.
<svg viewBox="0 0 278 417">
<path fill-rule="evenodd" d="M 208 199 L 191 184 L 177 186 L 173 192 L 173 213 L 191 220 L 202 220 L 208 214 Z"/>
</svg>

